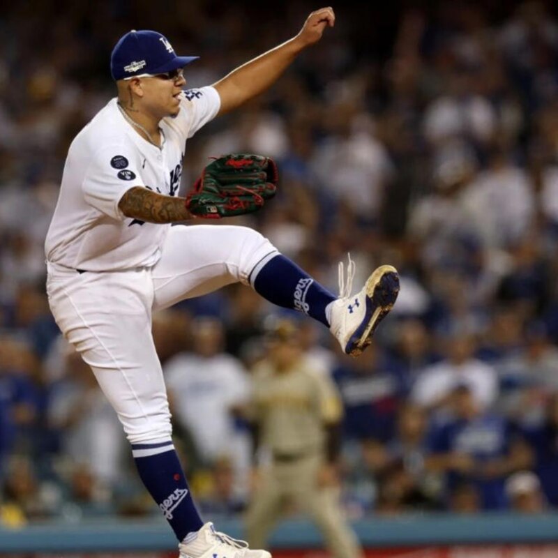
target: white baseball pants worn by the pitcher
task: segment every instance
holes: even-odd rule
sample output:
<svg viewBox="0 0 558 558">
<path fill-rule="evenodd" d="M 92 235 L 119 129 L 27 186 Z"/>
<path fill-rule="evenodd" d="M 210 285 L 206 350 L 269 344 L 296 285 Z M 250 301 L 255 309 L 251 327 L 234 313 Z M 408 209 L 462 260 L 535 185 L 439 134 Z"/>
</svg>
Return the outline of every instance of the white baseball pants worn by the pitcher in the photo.
<svg viewBox="0 0 558 558">
<path fill-rule="evenodd" d="M 164 442 L 172 433 L 152 312 L 233 282 L 253 285 L 277 254 L 247 227 L 179 225 L 169 228 L 152 268 L 80 274 L 47 264 L 54 319 L 91 366 L 130 443 Z"/>
</svg>

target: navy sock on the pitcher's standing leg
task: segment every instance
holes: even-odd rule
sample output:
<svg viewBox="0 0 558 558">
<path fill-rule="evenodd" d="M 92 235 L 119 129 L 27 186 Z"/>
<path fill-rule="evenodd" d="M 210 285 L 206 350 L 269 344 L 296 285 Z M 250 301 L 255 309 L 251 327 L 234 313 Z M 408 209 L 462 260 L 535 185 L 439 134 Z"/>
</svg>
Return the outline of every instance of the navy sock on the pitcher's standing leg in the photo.
<svg viewBox="0 0 558 558">
<path fill-rule="evenodd" d="M 204 525 L 190 495 L 186 477 L 172 442 L 133 444 L 140 478 L 170 523 L 179 541 Z"/>
</svg>

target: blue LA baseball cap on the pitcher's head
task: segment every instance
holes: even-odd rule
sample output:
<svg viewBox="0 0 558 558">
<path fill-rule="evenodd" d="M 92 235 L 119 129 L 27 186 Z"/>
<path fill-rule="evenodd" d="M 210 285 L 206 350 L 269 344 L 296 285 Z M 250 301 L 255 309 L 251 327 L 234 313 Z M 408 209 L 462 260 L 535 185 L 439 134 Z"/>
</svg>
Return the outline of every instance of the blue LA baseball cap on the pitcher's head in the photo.
<svg viewBox="0 0 558 558">
<path fill-rule="evenodd" d="M 168 39 L 157 31 L 133 29 L 123 35 L 110 55 L 113 80 L 155 75 L 183 68 L 199 56 L 176 56 Z"/>
</svg>

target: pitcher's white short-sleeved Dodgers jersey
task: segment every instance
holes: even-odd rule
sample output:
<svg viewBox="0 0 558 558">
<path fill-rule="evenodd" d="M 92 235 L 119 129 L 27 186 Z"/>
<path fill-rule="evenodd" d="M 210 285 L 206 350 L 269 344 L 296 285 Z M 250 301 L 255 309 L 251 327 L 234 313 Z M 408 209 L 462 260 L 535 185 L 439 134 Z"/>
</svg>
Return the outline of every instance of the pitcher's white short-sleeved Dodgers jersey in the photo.
<svg viewBox="0 0 558 558">
<path fill-rule="evenodd" d="M 184 91 L 176 118 L 160 122 L 164 142 L 159 149 L 130 126 L 116 98 L 110 100 L 70 145 L 45 241 L 47 261 L 86 271 L 156 264 L 170 225 L 123 216 L 120 199 L 134 186 L 176 195 L 186 140 L 219 107 L 219 94 L 211 86 Z"/>
</svg>

